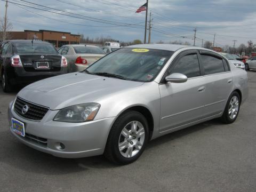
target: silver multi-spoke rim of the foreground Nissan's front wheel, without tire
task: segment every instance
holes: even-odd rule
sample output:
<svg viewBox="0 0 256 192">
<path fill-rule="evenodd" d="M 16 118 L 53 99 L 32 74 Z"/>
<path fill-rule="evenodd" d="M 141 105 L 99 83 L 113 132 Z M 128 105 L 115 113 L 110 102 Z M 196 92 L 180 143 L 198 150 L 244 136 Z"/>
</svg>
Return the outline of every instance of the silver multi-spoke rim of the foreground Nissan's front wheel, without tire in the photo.
<svg viewBox="0 0 256 192">
<path fill-rule="evenodd" d="M 119 152 L 123 157 L 131 158 L 137 155 L 145 141 L 145 129 L 139 121 L 125 125 L 118 141 Z"/>
</svg>

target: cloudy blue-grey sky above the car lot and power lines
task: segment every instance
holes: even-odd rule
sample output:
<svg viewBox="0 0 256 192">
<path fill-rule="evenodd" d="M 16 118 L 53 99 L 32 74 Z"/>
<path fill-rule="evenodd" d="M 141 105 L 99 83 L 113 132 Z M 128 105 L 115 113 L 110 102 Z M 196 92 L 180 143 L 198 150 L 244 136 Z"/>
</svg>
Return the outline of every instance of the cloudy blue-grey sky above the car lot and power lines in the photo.
<svg viewBox="0 0 256 192">
<path fill-rule="evenodd" d="M 7 18 L 12 31 L 56 30 L 85 37 L 107 37 L 119 41 L 143 42 L 145 13 L 135 11 L 146 0 L 9 0 Z M 12 4 L 11 2 L 30 7 Z M 32 2 L 35 4 L 30 4 Z M 51 10 L 47 7 L 57 10 Z M 45 9 L 52 12 L 33 9 Z M 149 12 L 153 17 L 151 43 L 163 41 L 189 42 L 193 45 L 196 27 L 196 46 L 204 41 L 215 46 L 235 46 L 251 40 L 256 43 L 255 0 L 149 0 Z M 0 17 L 3 19 L 5 2 L 0 0 Z M 60 15 L 63 13 L 72 15 Z M 71 14 L 73 13 L 73 14 Z M 98 21 L 98 22 L 96 22 Z"/>
</svg>

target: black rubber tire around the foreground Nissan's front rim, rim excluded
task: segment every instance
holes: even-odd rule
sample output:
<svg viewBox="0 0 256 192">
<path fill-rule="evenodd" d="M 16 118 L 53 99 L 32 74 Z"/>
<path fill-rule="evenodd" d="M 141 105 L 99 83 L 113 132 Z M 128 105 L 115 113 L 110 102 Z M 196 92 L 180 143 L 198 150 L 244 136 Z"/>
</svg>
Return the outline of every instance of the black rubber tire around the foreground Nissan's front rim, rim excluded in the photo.
<svg viewBox="0 0 256 192">
<path fill-rule="evenodd" d="M 143 125 L 145 130 L 145 139 L 143 141 L 143 145 L 141 146 L 138 153 L 132 157 L 124 157 L 119 151 L 119 137 L 121 137 L 121 132 L 123 131 L 124 127 L 129 124 L 130 122 L 138 121 Z M 145 146 L 147 145 L 149 139 L 149 131 L 148 131 L 148 122 L 145 116 L 137 111 L 129 110 L 126 113 L 119 116 L 113 126 L 111 127 L 110 133 L 108 135 L 108 140 L 105 147 L 104 155 L 109 161 L 116 163 L 116 164 L 129 164 L 136 161 L 140 155 L 142 154 Z M 128 150 L 128 149 L 127 149 Z"/>
</svg>

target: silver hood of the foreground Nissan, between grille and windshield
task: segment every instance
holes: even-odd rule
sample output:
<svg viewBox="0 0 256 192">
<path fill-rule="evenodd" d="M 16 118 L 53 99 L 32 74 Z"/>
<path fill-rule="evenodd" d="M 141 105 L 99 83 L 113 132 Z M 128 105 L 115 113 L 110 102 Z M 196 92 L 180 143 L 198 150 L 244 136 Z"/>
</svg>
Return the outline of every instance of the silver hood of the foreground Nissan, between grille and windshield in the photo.
<svg viewBox="0 0 256 192">
<path fill-rule="evenodd" d="M 142 84 L 86 73 L 71 73 L 32 83 L 24 87 L 18 97 L 57 110 L 79 103 L 97 102 L 100 98 L 111 97 L 111 94 Z"/>
</svg>

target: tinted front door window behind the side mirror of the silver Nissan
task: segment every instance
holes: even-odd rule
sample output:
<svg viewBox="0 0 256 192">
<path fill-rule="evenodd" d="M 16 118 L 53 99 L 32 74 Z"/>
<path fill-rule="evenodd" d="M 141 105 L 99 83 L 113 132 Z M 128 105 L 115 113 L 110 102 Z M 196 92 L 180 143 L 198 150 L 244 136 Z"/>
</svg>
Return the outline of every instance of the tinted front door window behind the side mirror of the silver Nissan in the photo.
<svg viewBox="0 0 256 192">
<path fill-rule="evenodd" d="M 181 73 L 188 78 L 200 76 L 200 67 L 197 54 L 189 54 L 183 56 L 175 63 L 175 66 L 171 69 L 171 73 Z"/>
</svg>

